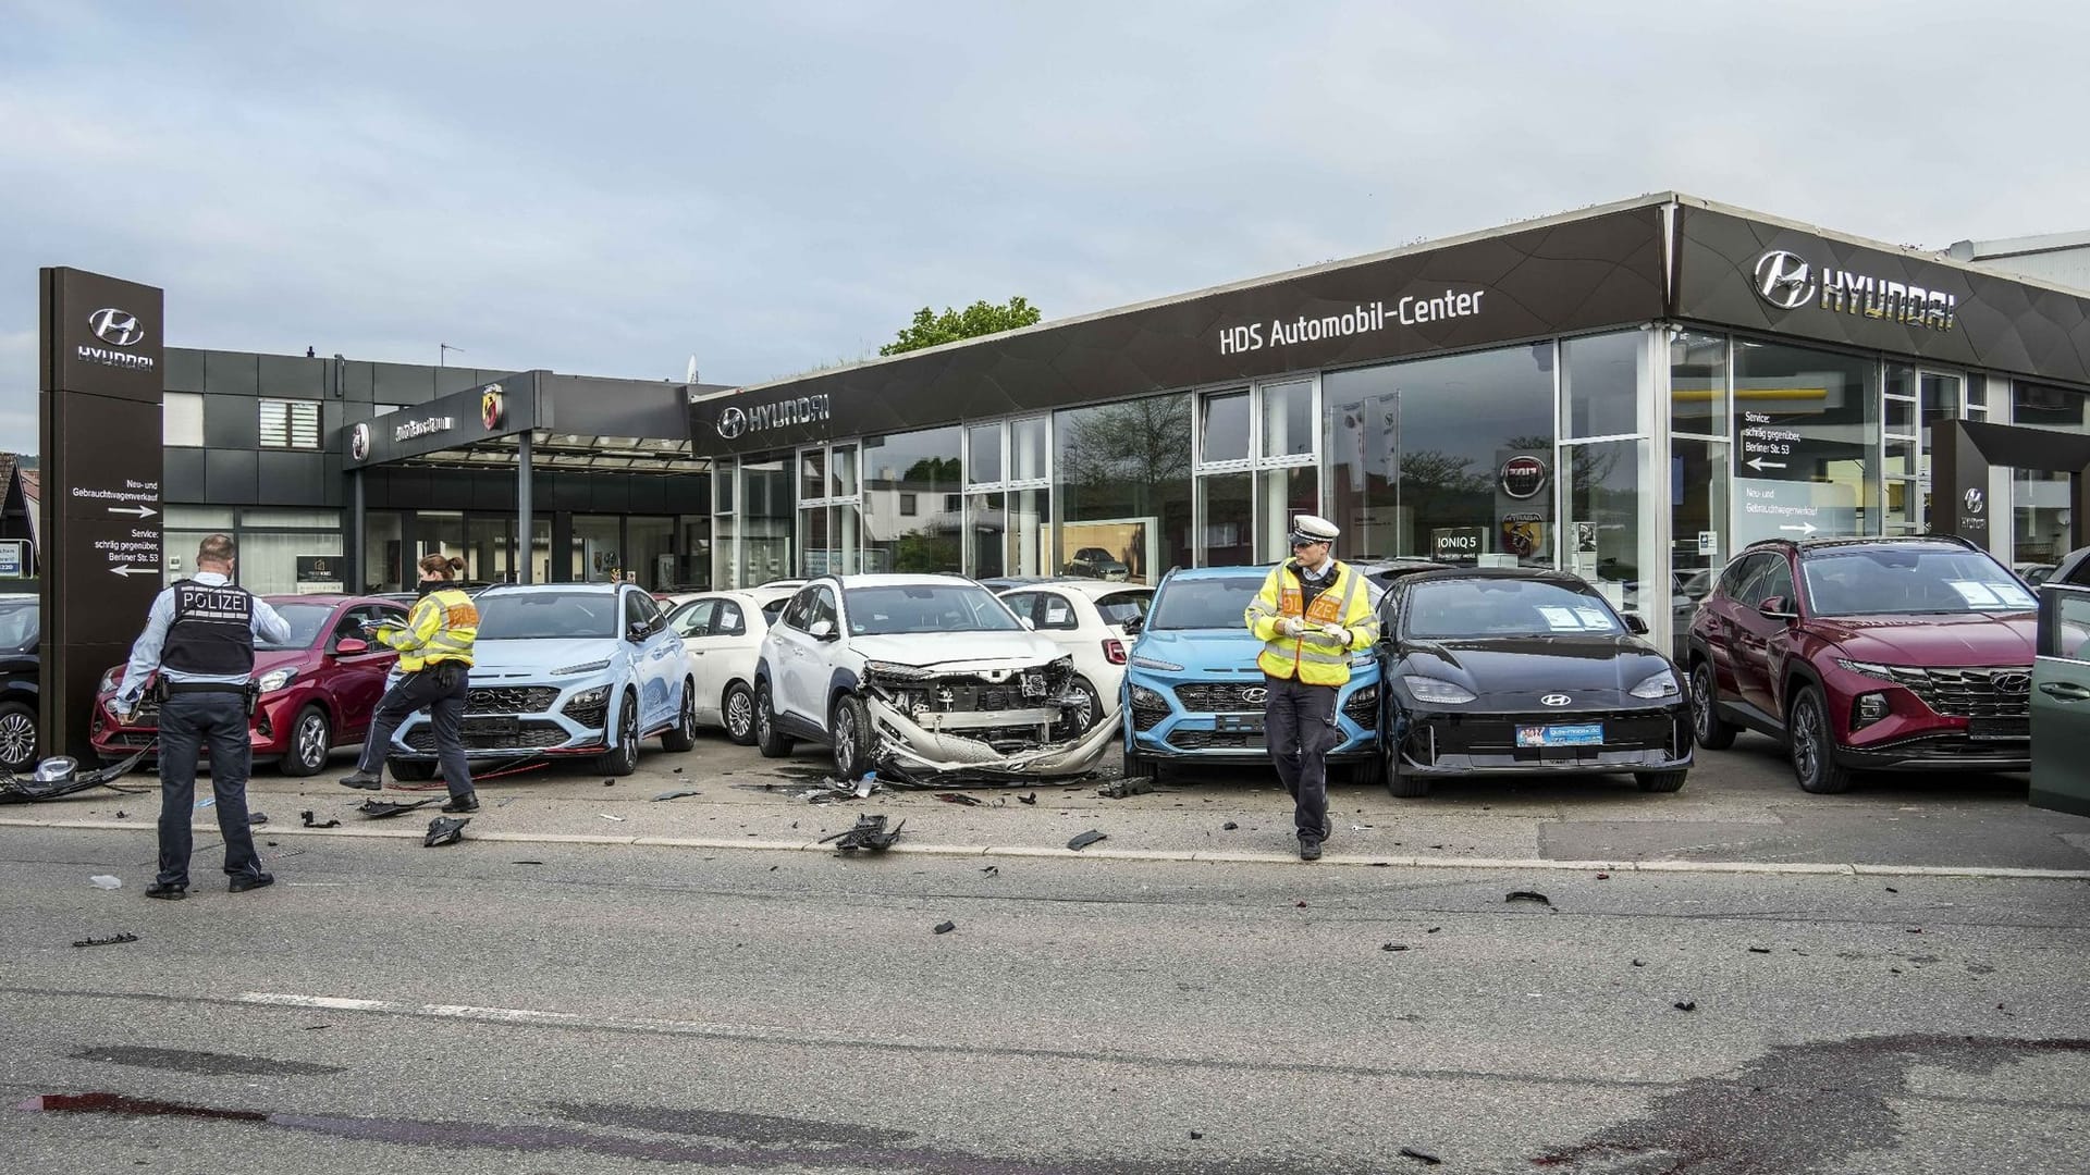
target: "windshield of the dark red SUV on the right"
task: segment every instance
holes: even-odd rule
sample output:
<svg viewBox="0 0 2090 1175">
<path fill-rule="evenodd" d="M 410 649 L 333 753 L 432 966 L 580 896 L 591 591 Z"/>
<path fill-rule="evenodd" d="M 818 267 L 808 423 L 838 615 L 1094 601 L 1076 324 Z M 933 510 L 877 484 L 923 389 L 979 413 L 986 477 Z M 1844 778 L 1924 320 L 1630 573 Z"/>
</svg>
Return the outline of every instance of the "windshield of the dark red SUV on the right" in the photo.
<svg viewBox="0 0 2090 1175">
<path fill-rule="evenodd" d="M 2029 613 L 2031 592 L 1979 550 L 1854 546 L 1799 558 L 1808 604 L 1820 617 Z"/>
</svg>

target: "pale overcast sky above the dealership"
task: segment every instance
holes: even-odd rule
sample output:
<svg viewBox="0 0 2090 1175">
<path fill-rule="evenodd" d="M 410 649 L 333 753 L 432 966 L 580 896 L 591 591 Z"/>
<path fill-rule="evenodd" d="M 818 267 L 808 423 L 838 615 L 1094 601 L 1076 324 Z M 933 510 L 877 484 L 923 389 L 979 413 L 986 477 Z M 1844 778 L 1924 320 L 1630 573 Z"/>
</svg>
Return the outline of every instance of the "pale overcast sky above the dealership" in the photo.
<svg viewBox="0 0 2090 1175">
<path fill-rule="evenodd" d="M 36 270 L 180 347 L 759 383 L 1641 192 L 2090 228 L 2090 4 L 0 0 L 0 450 Z"/>
</svg>

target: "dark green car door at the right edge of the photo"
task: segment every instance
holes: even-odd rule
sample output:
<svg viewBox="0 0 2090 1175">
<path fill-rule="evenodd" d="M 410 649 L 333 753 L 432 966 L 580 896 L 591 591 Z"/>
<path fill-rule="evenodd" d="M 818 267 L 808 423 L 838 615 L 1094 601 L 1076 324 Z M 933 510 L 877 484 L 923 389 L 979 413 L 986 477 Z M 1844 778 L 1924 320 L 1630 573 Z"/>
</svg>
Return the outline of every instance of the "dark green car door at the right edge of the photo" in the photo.
<svg viewBox="0 0 2090 1175">
<path fill-rule="evenodd" d="M 2090 588 L 2052 577 L 2040 583 L 2031 661 L 2029 801 L 2090 815 Z"/>
</svg>

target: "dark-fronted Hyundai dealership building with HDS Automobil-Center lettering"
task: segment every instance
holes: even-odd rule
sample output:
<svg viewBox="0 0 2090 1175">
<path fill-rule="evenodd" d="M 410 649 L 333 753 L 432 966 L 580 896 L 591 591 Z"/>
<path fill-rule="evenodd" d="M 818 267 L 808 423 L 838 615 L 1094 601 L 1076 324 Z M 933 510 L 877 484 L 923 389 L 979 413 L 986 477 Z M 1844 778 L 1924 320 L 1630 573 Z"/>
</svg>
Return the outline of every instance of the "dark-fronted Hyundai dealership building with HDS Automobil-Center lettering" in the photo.
<svg viewBox="0 0 2090 1175">
<path fill-rule="evenodd" d="M 261 592 L 435 548 L 1152 583 L 1315 512 L 1346 558 L 1568 567 L 1668 638 L 1760 537 L 2077 546 L 2090 297 L 1651 194 L 742 389 L 173 347 L 163 385 L 169 577 L 230 529 Z"/>
</svg>

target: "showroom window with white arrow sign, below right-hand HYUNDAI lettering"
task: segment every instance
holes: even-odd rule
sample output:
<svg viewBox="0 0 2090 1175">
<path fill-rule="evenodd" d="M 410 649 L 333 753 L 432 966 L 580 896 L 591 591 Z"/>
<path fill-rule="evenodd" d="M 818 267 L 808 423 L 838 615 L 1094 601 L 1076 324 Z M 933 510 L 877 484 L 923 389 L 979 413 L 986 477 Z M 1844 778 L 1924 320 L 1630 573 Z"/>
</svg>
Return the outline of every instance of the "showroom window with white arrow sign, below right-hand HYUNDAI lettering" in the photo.
<svg viewBox="0 0 2090 1175">
<path fill-rule="evenodd" d="M 1735 341 L 1735 546 L 1879 533 L 1879 364 Z"/>
</svg>

